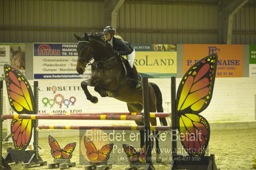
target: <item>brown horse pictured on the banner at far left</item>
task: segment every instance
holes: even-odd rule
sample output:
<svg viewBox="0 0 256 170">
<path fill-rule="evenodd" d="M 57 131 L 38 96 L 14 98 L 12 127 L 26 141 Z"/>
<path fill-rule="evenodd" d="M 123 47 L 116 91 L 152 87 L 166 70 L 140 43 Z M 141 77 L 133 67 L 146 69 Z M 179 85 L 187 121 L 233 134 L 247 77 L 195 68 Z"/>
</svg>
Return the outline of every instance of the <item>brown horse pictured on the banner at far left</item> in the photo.
<svg viewBox="0 0 256 170">
<path fill-rule="evenodd" d="M 18 50 L 13 50 L 11 47 L 10 52 L 10 64 L 19 70 L 25 70 L 25 52 L 21 51 L 20 46 L 18 47 Z"/>
</svg>

